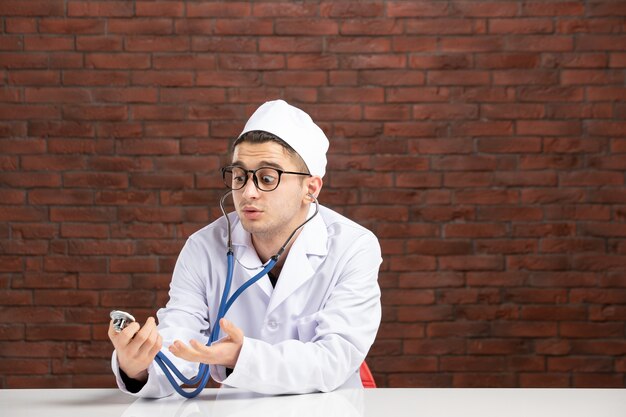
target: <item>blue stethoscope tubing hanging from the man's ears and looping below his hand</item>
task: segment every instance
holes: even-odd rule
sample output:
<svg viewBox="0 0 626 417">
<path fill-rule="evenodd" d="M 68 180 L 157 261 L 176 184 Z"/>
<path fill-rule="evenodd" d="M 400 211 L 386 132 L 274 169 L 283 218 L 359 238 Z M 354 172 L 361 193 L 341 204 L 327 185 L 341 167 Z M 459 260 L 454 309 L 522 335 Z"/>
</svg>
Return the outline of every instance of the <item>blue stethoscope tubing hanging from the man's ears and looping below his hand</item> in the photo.
<svg viewBox="0 0 626 417">
<path fill-rule="evenodd" d="M 304 223 L 302 223 L 300 226 L 294 229 L 294 231 L 291 233 L 291 235 L 289 235 L 289 237 L 287 238 L 283 246 L 281 246 L 281 248 L 276 253 L 276 255 L 270 258 L 270 260 L 267 262 L 267 264 L 265 264 L 263 269 L 258 274 L 256 274 L 255 276 L 253 276 L 252 278 L 244 282 L 241 285 L 241 287 L 239 287 L 237 291 L 234 292 L 233 295 L 228 297 L 228 294 L 230 294 L 230 287 L 233 281 L 235 257 L 233 255 L 233 247 L 232 247 L 232 240 L 231 240 L 230 218 L 228 217 L 228 215 L 226 214 L 226 210 L 224 209 L 224 201 L 226 200 L 226 197 L 228 197 L 231 193 L 232 191 L 228 191 L 220 199 L 220 209 L 222 210 L 222 213 L 224 217 L 226 218 L 226 222 L 228 223 L 228 251 L 226 252 L 226 259 L 227 259 L 226 282 L 224 283 L 224 291 L 222 292 L 222 298 L 220 300 L 220 305 L 219 305 L 218 312 L 217 312 L 217 318 L 215 320 L 213 330 L 211 331 L 211 335 L 209 337 L 209 341 L 207 342 L 206 346 L 211 346 L 211 344 L 213 344 L 213 342 L 217 340 L 219 333 L 220 333 L 220 320 L 226 315 L 226 313 L 228 312 L 230 307 L 233 305 L 235 300 L 239 298 L 239 296 L 247 288 L 249 288 L 251 285 L 253 285 L 255 282 L 257 282 L 261 278 L 263 278 L 265 275 L 267 275 L 269 271 L 272 270 L 274 265 L 276 265 L 276 262 L 278 262 L 278 258 L 283 254 L 283 252 L 285 251 L 285 248 L 287 247 L 291 239 L 294 237 L 296 232 L 300 230 L 305 224 L 307 224 L 311 219 L 313 219 L 313 217 L 315 217 L 317 213 L 319 212 L 319 203 L 317 199 L 312 194 L 309 194 L 311 199 L 315 202 L 315 212 L 313 213 L 313 215 L 309 217 L 308 219 L 306 219 Z M 187 378 L 178 370 L 178 368 L 176 368 L 176 365 L 174 365 L 174 363 L 172 363 L 172 361 L 167 356 L 165 356 L 163 352 L 160 352 L 160 351 L 159 353 L 157 353 L 156 357 L 154 358 L 154 361 L 163 370 L 165 377 L 170 382 L 170 384 L 172 384 L 172 387 L 174 387 L 176 392 L 185 398 L 194 398 L 198 394 L 200 394 L 200 392 L 202 392 L 202 390 L 206 386 L 207 382 L 209 382 L 209 378 L 211 376 L 209 365 L 201 363 L 200 366 L 198 367 L 198 374 L 193 378 Z M 193 391 L 185 391 L 179 385 L 179 383 L 174 379 L 174 376 L 172 375 L 172 373 L 176 375 L 176 378 L 178 378 L 183 384 L 187 384 L 187 385 L 198 384 L 198 386 L 194 388 Z"/>
</svg>

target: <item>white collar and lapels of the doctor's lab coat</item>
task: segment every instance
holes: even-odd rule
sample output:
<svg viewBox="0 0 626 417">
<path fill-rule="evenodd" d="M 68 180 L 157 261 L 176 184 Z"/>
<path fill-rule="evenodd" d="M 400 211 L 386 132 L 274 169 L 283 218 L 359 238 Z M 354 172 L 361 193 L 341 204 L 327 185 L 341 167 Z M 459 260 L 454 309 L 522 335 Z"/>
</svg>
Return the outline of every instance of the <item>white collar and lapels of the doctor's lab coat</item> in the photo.
<svg viewBox="0 0 626 417">
<path fill-rule="evenodd" d="M 314 212 L 315 206 L 311 205 L 309 216 L 313 215 Z M 254 246 L 252 246 L 250 233 L 244 230 L 236 215 L 235 219 L 237 220 L 235 220 L 232 237 L 235 255 L 238 257 L 239 261 L 246 266 L 261 265 L 259 256 Z M 321 263 L 320 258 L 328 254 L 327 246 L 328 232 L 326 223 L 321 213 L 318 213 L 304 226 L 293 242 L 287 254 L 287 259 L 285 259 L 285 264 L 283 265 L 276 288 L 272 288 L 268 279 L 261 279 L 255 284 L 259 285 L 270 297 L 268 313 L 278 307 L 289 295 L 313 277 L 315 269 Z M 244 269 L 244 271 L 247 270 Z M 258 270 L 247 272 L 249 277 L 252 277 Z M 240 284 L 239 280 L 235 279 L 234 281 L 234 285 Z"/>
</svg>

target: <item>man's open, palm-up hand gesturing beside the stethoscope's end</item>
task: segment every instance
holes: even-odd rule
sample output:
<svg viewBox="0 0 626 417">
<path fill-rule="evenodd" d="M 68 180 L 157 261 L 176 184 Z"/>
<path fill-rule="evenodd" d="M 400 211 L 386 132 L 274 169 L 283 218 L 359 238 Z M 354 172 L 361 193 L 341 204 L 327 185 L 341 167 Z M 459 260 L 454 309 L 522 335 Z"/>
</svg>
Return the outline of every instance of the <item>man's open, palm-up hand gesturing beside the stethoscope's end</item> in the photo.
<svg viewBox="0 0 626 417">
<path fill-rule="evenodd" d="M 189 345 L 176 340 L 170 346 L 170 352 L 189 362 L 200 362 L 207 365 L 223 365 L 234 368 L 243 345 L 243 331 L 226 319 L 220 320 L 220 328 L 227 337 L 211 346 L 191 340 Z"/>
</svg>

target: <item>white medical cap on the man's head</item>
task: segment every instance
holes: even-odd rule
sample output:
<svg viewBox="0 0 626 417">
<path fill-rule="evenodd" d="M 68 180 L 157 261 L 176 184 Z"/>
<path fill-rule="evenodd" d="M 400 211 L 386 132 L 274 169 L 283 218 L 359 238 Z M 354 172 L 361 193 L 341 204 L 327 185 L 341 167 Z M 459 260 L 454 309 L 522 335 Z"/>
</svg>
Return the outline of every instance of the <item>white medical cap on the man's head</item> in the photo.
<svg viewBox="0 0 626 417">
<path fill-rule="evenodd" d="M 304 160 L 311 175 L 326 173 L 328 138 L 311 116 L 283 100 L 263 103 L 248 119 L 241 137 L 254 130 L 271 133 L 284 140 Z"/>
</svg>

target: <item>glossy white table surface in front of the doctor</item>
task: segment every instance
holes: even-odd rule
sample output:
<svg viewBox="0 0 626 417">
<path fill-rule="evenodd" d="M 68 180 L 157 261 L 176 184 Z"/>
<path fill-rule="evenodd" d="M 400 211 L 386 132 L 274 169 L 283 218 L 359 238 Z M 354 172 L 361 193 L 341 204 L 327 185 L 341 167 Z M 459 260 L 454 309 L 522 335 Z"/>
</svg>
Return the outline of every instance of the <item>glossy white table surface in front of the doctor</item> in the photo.
<svg viewBox="0 0 626 417">
<path fill-rule="evenodd" d="M 263 396 L 206 389 L 192 400 L 146 400 L 116 389 L 7 389 L 0 390 L 0 416 L 626 417 L 626 390 L 377 388 Z"/>
</svg>

